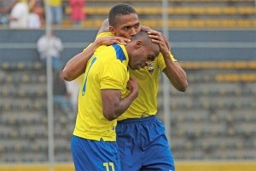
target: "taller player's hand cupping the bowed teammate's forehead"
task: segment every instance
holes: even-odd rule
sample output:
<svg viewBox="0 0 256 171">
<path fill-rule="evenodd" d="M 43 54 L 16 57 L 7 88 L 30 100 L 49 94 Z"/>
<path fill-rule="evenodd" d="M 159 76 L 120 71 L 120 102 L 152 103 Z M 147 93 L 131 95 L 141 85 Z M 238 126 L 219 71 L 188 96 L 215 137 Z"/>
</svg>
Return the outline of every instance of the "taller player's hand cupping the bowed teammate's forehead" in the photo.
<svg viewBox="0 0 256 171">
<path fill-rule="evenodd" d="M 169 53 L 170 45 L 160 31 L 148 30 L 148 37 L 151 38 L 153 43 L 157 43 L 160 46 L 160 52 L 162 54 Z"/>
</svg>

